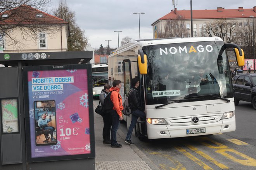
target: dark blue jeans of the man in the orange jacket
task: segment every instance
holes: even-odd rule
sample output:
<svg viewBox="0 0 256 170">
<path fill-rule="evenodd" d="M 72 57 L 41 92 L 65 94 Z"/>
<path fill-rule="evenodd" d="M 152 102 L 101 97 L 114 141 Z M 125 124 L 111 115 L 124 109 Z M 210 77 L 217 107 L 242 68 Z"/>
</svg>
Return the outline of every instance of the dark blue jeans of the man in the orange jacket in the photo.
<svg viewBox="0 0 256 170">
<path fill-rule="evenodd" d="M 119 115 L 117 114 L 116 110 L 111 110 L 110 114 L 112 116 L 111 145 L 114 146 L 117 144 L 116 133 L 118 131 L 120 121 Z"/>
</svg>

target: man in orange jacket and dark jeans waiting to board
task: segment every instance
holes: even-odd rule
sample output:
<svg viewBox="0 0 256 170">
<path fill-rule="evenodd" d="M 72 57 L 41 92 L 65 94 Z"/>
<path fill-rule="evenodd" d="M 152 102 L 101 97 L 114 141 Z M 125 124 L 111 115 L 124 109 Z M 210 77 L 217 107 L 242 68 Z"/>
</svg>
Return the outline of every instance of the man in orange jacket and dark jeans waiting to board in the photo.
<svg viewBox="0 0 256 170">
<path fill-rule="evenodd" d="M 123 145 L 121 143 L 117 143 L 116 141 L 116 133 L 119 128 L 119 123 L 121 120 L 123 120 L 123 116 L 122 116 L 123 102 L 122 102 L 121 95 L 119 94 L 119 90 L 121 88 L 121 81 L 114 80 L 112 85 L 113 87 L 109 89 L 111 92 L 110 99 L 114 105 L 110 112 L 112 116 L 111 147 L 121 148 Z"/>
</svg>

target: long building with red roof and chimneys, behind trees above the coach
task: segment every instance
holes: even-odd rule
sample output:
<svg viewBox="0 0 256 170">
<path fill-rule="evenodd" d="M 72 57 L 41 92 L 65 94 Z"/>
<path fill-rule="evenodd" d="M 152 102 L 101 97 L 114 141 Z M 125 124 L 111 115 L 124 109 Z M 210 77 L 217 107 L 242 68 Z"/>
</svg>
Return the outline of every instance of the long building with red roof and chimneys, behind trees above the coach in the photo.
<svg viewBox="0 0 256 170">
<path fill-rule="evenodd" d="M 160 32 L 164 32 L 164 26 L 166 25 L 167 20 L 176 19 L 176 17 L 179 15 L 184 18 L 190 37 L 190 10 L 177 10 L 177 8 L 171 10 L 169 14 L 164 15 L 151 24 L 153 28 L 153 37 L 157 38 Z M 227 21 L 235 20 L 238 23 L 237 26 L 240 26 L 239 24 L 248 24 L 248 19 L 251 19 L 251 22 L 253 22 L 250 16 L 256 17 L 256 6 L 250 9 L 244 9 L 243 7 L 238 7 L 237 9 L 225 9 L 223 7 L 217 7 L 215 10 L 193 10 L 193 35 L 196 36 L 197 33 L 200 32 L 202 24 L 206 22 L 212 22 L 218 19 L 227 19 Z"/>
</svg>

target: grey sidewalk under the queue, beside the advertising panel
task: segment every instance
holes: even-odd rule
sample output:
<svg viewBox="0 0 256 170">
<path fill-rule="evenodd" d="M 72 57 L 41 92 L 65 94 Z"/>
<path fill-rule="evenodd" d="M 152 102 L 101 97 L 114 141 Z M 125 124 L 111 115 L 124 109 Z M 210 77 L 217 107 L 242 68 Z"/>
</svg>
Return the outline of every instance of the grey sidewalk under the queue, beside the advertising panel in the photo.
<svg viewBox="0 0 256 170">
<path fill-rule="evenodd" d="M 93 100 L 94 109 L 99 100 Z M 159 170 L 159 168 L 140 151 L 136 144 L 127 145 L 125 134 L 118 130 L 117 140 L 122 148 L 111 148 L 110 144 L 103 144 L 102 116 L 94 112 L 95 128 L 95 170 Z"/>
</svg>

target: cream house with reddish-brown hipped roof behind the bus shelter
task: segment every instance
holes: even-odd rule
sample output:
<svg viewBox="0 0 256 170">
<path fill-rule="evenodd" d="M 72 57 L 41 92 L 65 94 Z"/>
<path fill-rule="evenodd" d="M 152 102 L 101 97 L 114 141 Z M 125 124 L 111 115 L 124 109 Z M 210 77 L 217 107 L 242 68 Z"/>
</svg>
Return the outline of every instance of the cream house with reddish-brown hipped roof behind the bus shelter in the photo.
<svg viewBox="0 0 256 170">
<path fill-rule="evenodd" d="M 69 24 L 28 5 L 0 14 L 2 53 L 67 51 Z"/>
</svg>

